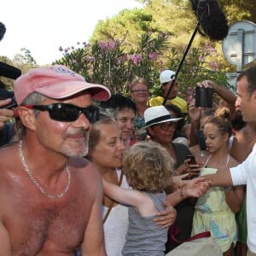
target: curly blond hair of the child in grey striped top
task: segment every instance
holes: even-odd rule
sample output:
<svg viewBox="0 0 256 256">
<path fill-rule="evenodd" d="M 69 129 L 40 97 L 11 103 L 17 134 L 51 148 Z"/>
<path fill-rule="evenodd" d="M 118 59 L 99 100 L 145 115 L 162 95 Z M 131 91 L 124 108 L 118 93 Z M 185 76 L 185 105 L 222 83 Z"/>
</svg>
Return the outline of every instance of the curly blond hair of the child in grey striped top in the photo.
<svg viewBox="0 0 256 256">
<path fill-rule="evenodd" d="M 123 172 L 134 189 L 160 192 L 172 183 L 174 161 L 159 143 L 135 143 L 124 155 Z"/>
</svg>

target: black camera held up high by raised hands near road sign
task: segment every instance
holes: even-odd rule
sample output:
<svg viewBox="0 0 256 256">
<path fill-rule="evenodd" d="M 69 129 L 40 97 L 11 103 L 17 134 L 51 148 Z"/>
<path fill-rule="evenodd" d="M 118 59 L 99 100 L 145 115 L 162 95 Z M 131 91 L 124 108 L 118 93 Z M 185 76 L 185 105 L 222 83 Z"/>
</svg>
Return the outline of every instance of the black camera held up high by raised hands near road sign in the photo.
<svg viewBox="0 0 256 256">
<path fill-rule="evenodd" d="M 211 87 L 195 87 L 195 107 L 212 108 L 213 89 Z"/>
</svg>

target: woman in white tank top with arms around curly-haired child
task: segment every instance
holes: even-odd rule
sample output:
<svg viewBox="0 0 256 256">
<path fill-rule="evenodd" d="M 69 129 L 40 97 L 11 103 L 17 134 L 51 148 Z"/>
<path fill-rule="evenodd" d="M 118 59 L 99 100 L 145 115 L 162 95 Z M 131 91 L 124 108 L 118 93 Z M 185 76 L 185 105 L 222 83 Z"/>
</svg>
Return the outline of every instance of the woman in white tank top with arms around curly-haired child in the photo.
<svg viewBox="0 0 256 256">
<path fill-rule="evenodd" d="M 92 125 L 90 131 L 90 151 L 88 158 L 96 165 L 102 177 L 124 189 L 131 189 L 125 175 L 120 167 L 123 163 L 123 154 L 125 146 L 122 140 L 122 134 L 115 120 L 109 117 L 102 117 L 98 122 Z M 189 195 L 199 196 L 206 192 L 205 184 L 190 183 L 183 189 L 178 189 L 176 195 L 177 201 L 182 201 Z M 125 236 L 128 230 L 128 207 L 112 201 L 107 195 L 104 196 L 103 203 L 103 223 L 106 251 L 109 256 L 121 255 L 125 244 Z M 165 211 L 155 214 L 154 221 L 163 228 L 170 226 L 175 218 L 176 211 L 167 202 L 169 207 Z"/>
</svg>

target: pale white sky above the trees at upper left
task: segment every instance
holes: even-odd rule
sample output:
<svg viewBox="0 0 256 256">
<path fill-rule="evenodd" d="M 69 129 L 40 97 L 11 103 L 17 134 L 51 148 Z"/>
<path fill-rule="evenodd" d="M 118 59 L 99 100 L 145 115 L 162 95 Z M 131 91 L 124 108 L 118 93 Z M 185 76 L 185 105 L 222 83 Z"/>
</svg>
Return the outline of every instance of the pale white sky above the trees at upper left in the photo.
<svg viewBox="0 0 256 256">
<path fill-rule="evenodd" d="M 88 42 L 98 20 L 135 7 L 142 4 L 135 0 L 5 0 L 0 21 L 7 31 L 0 55 L 12 59 L 26 48 L 39 65 L 50 64 L 61 57 L 60 46 Z"/>
</svg>

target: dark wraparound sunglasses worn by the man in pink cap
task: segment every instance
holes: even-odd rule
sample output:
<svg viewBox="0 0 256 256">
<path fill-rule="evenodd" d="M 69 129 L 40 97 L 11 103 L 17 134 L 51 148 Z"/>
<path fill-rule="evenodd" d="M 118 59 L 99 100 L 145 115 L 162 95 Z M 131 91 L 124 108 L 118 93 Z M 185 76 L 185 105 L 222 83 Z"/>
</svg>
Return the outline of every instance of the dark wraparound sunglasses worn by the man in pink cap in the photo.
<svg viewBox="0 0 256 256">
<path fill-rule="evenodd" d="M 99 108 L 96 106 L 79 108 L 67 103 L 53 103 L 49 105 L 26 105 L 24 107 L 40 111 L 46 110 L 49 112 L 51 119 L 61 122 L 73 122 L 79 118 L 81 113 L 84 113 L 90 123 L 95 123 L 99 120 Z"/>
</svg>

